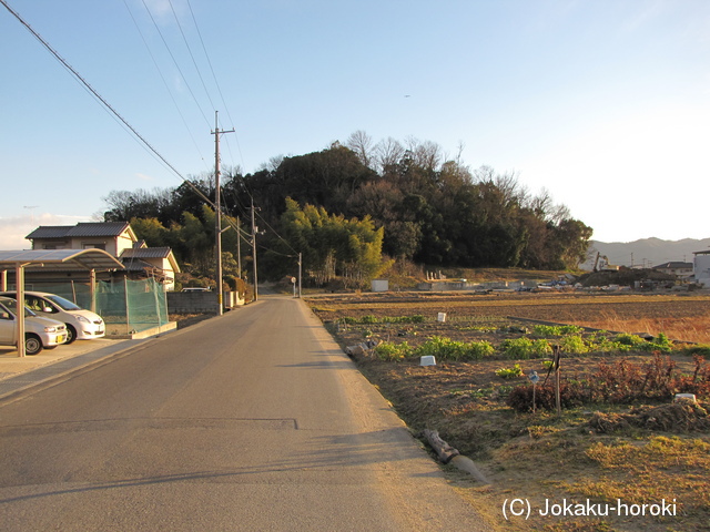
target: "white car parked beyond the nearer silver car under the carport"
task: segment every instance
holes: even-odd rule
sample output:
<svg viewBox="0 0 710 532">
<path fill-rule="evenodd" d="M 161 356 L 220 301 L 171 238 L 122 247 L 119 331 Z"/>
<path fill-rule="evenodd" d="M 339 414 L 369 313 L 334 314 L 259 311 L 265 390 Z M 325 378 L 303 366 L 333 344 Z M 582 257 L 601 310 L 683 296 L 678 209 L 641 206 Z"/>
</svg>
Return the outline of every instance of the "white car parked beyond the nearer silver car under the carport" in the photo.
<svg viewBox="0 0 710 532">
<path fill-rule="evenodd" d="M 2 291 L 0 296 L 17 297 L 17 293 Z M 101 316 L 63 297 L 45 291 L 26 291 L 24 304 L 39 316 L 63 321 L 67 325 L 67 344 L 75 339 L 90 340 L 105 336 L 105 325 Z"/>
</svg>

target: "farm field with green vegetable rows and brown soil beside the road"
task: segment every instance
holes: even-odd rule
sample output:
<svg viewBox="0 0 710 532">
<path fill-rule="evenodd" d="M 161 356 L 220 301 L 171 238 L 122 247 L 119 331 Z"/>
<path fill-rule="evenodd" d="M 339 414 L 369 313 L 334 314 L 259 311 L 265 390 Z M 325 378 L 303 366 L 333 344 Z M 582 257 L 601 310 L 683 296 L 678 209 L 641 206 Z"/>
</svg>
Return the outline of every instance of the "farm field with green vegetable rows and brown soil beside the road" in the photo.
<svg viewBox="0 0 710 532">
<path fill-rule="evenodd" d="M 344 349 L 379 344 L 353 359 L 415 437 L 438 431 L 474 460 L 487 482 L 443 467 L 497 530 L 710 530 L 710 296 L 400 293 L 306 303 Z M 617 341 L 642 332 L 652 338 Z M 510 349 L 520 341 L 560 348 L 559 415 L 551 352 Z M 425 352 L 442 355 L 436 366 L 419 366 Z M 535 412 L 530 371 L 540 378 Z M 638 382 L 643 390 L 631 390 Z M 673 403 L 679 386 L 694 386 L 698 403 Z"/>
</svg>

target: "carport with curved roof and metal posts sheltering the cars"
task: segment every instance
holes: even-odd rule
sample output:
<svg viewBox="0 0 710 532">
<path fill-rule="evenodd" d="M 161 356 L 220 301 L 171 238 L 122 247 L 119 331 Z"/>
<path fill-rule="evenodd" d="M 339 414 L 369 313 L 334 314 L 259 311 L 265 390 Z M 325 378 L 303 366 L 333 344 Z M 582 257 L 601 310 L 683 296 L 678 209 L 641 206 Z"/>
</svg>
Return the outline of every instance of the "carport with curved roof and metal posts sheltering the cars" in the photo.
<svg viewBox="0 0 710 532">
<path fill-rule="evenodd" d="M 24 270 L 27 268 L 51 267 L 59 270 L 88 269 L 90 272 L 91 299 L 97 285 L 97 270 L 123 269 L 123 265 L 103 249 L 24 249 L 0 250 L 0 288 L 8 289 L 8 270 L 14 268 L 17 286 L 18 356 L 24 357 Z M 93 304 L 92 304 L 93 307 Z M 95 310 L 92 308 L 91 310 Z"/>
</svg>

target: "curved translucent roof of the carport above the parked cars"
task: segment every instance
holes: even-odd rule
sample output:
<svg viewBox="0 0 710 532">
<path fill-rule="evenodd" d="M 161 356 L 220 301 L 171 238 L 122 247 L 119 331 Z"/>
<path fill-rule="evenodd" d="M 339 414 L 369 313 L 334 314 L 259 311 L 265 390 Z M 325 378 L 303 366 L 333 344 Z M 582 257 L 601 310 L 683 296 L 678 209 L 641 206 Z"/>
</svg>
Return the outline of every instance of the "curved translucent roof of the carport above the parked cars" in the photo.
<svg viewBox="0 0 710 532">
<path fill-rule="evenodd" d="M 0 250 L 0 269 L 10 269 L 18 264 L 24 268 L 50 266 L 52 269 L 123 269 L 123 265 L 103 249 L 23 249 Z"/>
</svg>

